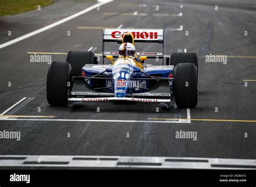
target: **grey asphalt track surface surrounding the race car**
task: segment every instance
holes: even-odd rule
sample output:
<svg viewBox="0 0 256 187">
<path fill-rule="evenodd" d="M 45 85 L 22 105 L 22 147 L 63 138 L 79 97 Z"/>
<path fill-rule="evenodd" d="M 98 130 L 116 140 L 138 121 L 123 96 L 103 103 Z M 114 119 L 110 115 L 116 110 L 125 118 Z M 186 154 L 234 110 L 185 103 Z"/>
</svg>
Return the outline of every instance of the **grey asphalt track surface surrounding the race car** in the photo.
<svg viewBox="0 0 256 187">
<path fill-rule="evenodd" d="M 92 4 L 85 4 L 81 9 Z M 159 5 L 159 10 L 156 10 L 156 5 Z M 50 11 L 51 7 L 47 9 Z M 68 15 L 75 13 L 70 11 Z M 26 14 L 19 17 L 22 19 Z M 55 15 L 53 9 L 52 14 Z M 57 16 L 56 19 L 60 18 Z M 100 6 L 100 10 L 94 9 L 0 49 L 0 112 L 26 97 L 0 117 L 0 131 L 21 131 L 20 141 L 0 139 L 0 155 L 255 159 L 255 20 L 254 10 L 232 8 L 228 4 L 219 6 L 216 11 L 214 5 L 206 2 L 114 1 Z M 21 28 L 24 28 L 19 34 L 26 34 L 44 24 L 47 25 L 35 23 L 26 27 L 21 23 Z M 178 51 L 198 53 L 196 108 L 181 110 L 174 105 L 165 110 L 160 104 L 152 103 L 82 103 L 72 107 L 48 104 L 46 74 L 49 64 L 30 62 L 31 54 L 28 53 L 67 53 L 71 50 L 87 51 L 91 47 L 95 53 L 101 53 L 102 30 L 96 27 L 116 28 L 120 25 L 122 28 L 164 28 L 165 54 Z M 181 25 L 183 29 L 177 29 Z M 8 30 L 10 25 L 3 28 Z M 11 29 L 19 30 L 15 24 Z M 67 31 L 70 31 L 70 36 L 67 36 Z M 1 43 L 15 38 L 1 33 Z M 154 44 L 146 46 L 146 51 L 155 49 Z M 137 50 L 140 51 L 138 47 Z M 227 55 L 227 63 L 206 63 L 205 55 L 210 53 Z M 65 60 L 65 54 L 51 54 L 51 57 L 52 60 Z M 97 112 L 97 107 L 100 112 Z M 156 112 L 156 107 L 159 107 L 159 112 Z M 215 112 L 215 107 L 218 107 L 218 112 Z M 185 123 L 189 114 L 191 120 Z M 181 120 L 173 120 L 176 118 Z M 175 133 L 180 130 L 196 131 L 197 140 L 176 139 Z M 67 138 L 68 133 L 70 138 Z"/>
</svg>

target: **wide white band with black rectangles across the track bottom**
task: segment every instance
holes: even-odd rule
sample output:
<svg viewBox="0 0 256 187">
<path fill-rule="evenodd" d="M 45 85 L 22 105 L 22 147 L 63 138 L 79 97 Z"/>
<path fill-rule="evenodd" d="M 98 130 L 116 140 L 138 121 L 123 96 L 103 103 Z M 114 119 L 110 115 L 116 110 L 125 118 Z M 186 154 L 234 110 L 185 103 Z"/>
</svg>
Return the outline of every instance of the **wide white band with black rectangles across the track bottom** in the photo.
<svg viewBox="0 0 256 187">
<path fill-rule="evenodd" d="M 163 156 L 80 156 L 80 155 L 0 155 L 2 167 L 117 167 L 183 169 L 254 169 L 254 159 L 221 159 Z M 24 159 L 19 159 L 24 158 Z M 38 163 L 38 159 L 41 163 Z M 30 162 L 30 163 L 29 163 Z M 32 163 L 31 163 L 32 162 Z M 43 162 L 67 162 L 45 164 Z M 137 163 L 144 163 L 139 165 Z M 215 165 L 222 165 L 217 167 Z M 242 167 L 244 166 L 244 167 Z"/>
</svg>

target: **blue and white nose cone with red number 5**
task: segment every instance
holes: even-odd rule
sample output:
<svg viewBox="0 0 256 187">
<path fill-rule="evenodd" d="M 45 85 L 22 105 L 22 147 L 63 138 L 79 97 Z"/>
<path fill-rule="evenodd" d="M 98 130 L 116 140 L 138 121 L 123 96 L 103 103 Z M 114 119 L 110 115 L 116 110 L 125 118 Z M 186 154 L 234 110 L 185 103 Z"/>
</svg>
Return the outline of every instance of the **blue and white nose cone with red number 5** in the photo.
<svg viewBox="0 0 256 187">
<path fill-rule="evenodd" d="M 127 85 L 133 73 L 133 68 L 130 64 L 118 64 L 113 70 L 114 80 L 114 97 L 125 97 Z"/>
</svg>

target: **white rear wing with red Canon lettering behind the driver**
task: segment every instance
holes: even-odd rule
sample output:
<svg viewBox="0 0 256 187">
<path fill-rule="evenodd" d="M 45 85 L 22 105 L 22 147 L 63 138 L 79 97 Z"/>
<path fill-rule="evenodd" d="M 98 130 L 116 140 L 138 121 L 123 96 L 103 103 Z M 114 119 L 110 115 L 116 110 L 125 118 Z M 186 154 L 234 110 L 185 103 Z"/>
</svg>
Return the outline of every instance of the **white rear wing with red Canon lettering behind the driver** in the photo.
<svg viewBox="0 0 256 187">
<path fill-rule="evenodd" d="M 162 44 L 162 52 L 137 52 L 140 55 L 146 55 L 148 58 L 159 58 L 163 59 L 164 64 L 164 30 L 160 29 L 131 29 L 131 28 L 104 28 L 103 29 L 103 44 L 102 44 L 102 54 L 103 54 L 103 64 L 106 55 L 112 55 L 113 57 L 118 57 L 118 52 L 105 52 L 104 42 L 117 42 L 122 44 L 122 35 L 124 33 L 130 32 L 133 34 L 134 43 L 136 42 L 150 42 Z"/>
</svg>

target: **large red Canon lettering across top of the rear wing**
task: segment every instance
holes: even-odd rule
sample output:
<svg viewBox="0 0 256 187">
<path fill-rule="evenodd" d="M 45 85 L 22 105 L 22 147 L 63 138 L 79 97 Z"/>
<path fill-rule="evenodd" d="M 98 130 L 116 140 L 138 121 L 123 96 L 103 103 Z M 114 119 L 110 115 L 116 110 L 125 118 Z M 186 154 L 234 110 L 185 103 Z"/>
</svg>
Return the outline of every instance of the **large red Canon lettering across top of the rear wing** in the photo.
<svg viewBox="0 0 256 187">
<path fill-rule="evenodd" d="M 111 36 L 112 38 L 122 38 L 123 37 L 123 34 L 125 34 L 127 32 L 120 32 L 120 31 L 113 31 L 111 33 Z M 157 35 L 157 32 L 131 32 L 134 39 L 147 39 L 147 38 L 150 38 L 150 39 L 157 39 L 158 38 L 158 35 Z M 122 35 L 121 35 L 122 34 Z"/>
</svg>

